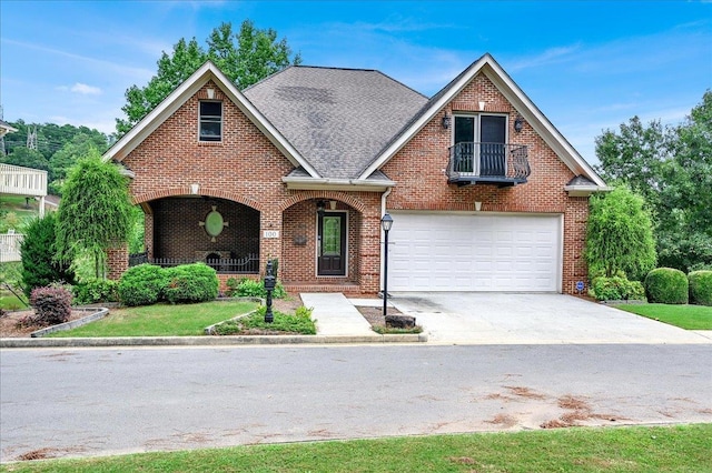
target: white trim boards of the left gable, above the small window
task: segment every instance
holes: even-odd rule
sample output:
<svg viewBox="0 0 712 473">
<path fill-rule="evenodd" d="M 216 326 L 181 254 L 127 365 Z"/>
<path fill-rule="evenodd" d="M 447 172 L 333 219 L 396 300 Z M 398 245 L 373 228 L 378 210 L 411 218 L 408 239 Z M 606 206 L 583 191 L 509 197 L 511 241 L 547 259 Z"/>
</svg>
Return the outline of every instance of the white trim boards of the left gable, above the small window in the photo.
<svg viewBox="0 0 712 473">
<path fill-rule="evenodd" d="M 235 84 L 211 62 L 207 61 L 185 82 L 174 90 L 162 102 L 151 110 L 128 133 L 117 141 L 103 154 L 105 159 L 121 162 L 161 123 L 172 115 L 184 103 L 196 94 L 206 83 L 212 81 L 225 95 L 269 139 L 269 141 L 296 168 L 301 167 L 309 175 L 318 178 L 310 165 L 285 137 L 265 118 L 265 115 L 235 87 Z"/>
</svg>

